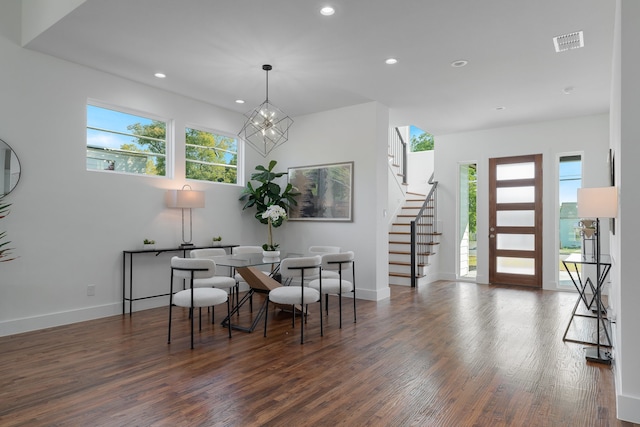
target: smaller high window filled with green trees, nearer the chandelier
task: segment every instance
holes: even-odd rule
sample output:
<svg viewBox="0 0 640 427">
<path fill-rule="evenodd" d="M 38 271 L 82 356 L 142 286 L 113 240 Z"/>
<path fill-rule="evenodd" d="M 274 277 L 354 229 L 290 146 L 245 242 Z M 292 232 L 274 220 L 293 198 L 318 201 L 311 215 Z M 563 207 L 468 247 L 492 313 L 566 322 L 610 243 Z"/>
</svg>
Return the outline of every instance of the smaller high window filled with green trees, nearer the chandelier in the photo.
<svg viewBox="0 0 640 427">
<path fill-rule="evenodd" d="M 185 128 L 187 179 L 238 184 L 239 140 L 217 131 Z"/>
</svg>

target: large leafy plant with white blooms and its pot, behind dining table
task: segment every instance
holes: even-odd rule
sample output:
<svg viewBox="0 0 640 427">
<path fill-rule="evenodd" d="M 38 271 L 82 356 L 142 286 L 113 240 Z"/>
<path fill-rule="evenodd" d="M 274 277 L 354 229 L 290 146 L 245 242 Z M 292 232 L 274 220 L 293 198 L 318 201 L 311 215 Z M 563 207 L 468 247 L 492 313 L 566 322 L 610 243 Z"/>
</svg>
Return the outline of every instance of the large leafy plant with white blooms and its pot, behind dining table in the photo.
<svg viewBox="0 0 640 427">
<path fill-rule="evenodd" d="M 272 228 L 280 227 L 283 224 L 287 219 L 287 209 L 289 206 L 298 204 L 295 196 L 300 194 L 295 191 L 296 189 L 290 183 L 287 183 L 283 189 L 274 182 L 276 179 L 286 175 L 286 172 L 273 171 L 276 164 L 275 160 L 271 160 L 266 168 L 262 165 L 256 166 L 256 172 L 251 175 L 251 180 L 257 181 L 260 185 L 254 186 L 249 181 L 240 194 L 240 200 L 245 202 L 242 209 L 245 210 L 255 206 L 256 219 L 268 226 L 269 240 L 262 245 L 265 251 L 277 250 L 279 245 L 273 243 Z"/>
</svg>

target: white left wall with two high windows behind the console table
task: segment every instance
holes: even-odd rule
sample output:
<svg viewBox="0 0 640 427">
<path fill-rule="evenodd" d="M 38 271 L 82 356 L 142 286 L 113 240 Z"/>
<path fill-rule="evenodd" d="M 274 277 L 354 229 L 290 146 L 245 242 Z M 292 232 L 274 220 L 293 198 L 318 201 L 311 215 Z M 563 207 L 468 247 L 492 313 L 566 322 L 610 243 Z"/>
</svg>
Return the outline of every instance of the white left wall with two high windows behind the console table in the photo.
<svg viewBox="0 0 640 427">
<path fill-rule="evenodd" d="M 6 200 L 11 213 L 0 223 L 18 257 L 0 265 L 0 335 L 118 313 L 122 250 L 144 238 L 159 247 L 181 241 L 180 211 L 164 206 L 164 191 L 185 183 L 180 130 L 189 122 L 235 132 L 242 115 L 25 50 L 5 37 L 0 56 L 0 138 L 22 165 Z M 175 178 L 86 171 L 88 98 L 174 119 Z M 253 240 L 238 214 L 241 186 L 191 185 L 206 191 L 207 203 L 194 210 L 195 243 L 217 234 Z M 142 257 L 138 271 L 160 260 Z M 137 279 L 139 290 L 167 292 L 167 277 L 154 267 Z M 89 284 L 95 296 L 87 296 Z"/>
</svg>

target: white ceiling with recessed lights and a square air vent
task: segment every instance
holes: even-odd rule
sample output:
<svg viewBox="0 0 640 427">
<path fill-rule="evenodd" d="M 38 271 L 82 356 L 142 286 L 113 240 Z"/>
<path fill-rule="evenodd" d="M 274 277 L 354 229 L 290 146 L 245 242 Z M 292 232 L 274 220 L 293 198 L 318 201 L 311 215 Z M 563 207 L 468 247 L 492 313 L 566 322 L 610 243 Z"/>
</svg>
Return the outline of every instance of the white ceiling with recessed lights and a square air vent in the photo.
<svg viewBox="0 0 640 427">
<path fill-rule="evenodd" d="M 325 4 L 335 15 L 319 14 Z M 375 100 L 393 125 L 442 135 L 608 112 L 614 9 L 610 0 L 86 0 L 25 47 L 241 113 L 264 101 L 262 64 L 272 64 L 269 100 L 294 119 Z M 579 30 L 584 48 L 555 52 L 554 36 Z M 451 67 L 459 59 L 469 64 Z"/>
</svg>

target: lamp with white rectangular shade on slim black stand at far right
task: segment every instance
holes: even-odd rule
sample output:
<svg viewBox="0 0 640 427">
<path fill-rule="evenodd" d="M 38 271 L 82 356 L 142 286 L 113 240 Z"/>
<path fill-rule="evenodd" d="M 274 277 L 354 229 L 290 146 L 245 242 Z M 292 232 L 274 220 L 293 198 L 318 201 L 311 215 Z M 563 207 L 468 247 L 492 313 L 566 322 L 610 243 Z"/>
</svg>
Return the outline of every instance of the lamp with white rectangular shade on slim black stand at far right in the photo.
<svg viewBox="0 0 640 427">
<path fill-rule="evenodd" d="M 618 215 L 618 189 L 617 187 L 600 188 L 579 188 L 578 189 L 578 216 L 580 218 L 595 218 L 596 252 L 594 254 L 596 262 L 596 347 L 587 350 L 586 358 L 589 362 L 611 364 L 610 353 L 601 349 L 600 346 L 600 326 L 602 325 L 602 286 L 604 277 L 600 277 L 601 253 L 600 238 L 600 218 L 615 218 Z M 605 326 L 606 327 L 606 326 Z"/>
</svg>

